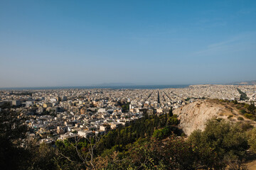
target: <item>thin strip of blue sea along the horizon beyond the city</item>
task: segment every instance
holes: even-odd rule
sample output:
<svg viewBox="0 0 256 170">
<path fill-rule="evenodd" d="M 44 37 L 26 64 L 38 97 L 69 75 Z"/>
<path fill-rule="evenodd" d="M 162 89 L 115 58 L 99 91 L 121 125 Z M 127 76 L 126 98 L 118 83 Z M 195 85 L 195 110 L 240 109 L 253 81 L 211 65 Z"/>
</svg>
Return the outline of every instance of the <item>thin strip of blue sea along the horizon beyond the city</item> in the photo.
<svg viewBox="0 0 256 170">
<path fill-rule="evenodd" d="M 190 84 L 178 85 L 120 85 L 120 86 L 48 86 L 48 87 L 10 87 L 0 90 L 55 90 L 55 89 L 171 89 L 185 88 Z"/>
</svg>

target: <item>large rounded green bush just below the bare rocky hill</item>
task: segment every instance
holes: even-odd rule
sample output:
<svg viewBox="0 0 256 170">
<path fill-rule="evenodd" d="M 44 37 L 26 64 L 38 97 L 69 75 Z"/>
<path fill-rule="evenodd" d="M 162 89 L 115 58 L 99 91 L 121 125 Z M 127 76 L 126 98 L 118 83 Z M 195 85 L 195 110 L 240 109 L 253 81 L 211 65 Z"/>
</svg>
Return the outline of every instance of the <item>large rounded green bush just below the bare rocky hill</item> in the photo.
<svg viewBox="0 0 256 170">
<path fill-rule="evenodd" d="M 194 131 L 188 138 L 198 157 L 208 168 L 221 169 L 228 161 L 242 160 L 247 138 L 240 125 L 225 120 L 208 120 L 205 131 Z"/>
</svg>

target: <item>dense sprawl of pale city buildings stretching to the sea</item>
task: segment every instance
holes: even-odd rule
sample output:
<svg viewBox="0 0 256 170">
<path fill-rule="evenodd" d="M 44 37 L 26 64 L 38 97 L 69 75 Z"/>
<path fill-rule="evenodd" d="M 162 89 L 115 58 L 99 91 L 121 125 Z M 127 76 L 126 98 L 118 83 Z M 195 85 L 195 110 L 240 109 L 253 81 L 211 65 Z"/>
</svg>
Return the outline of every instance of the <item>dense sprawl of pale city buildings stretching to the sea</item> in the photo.
<svg viewBox="0 0 256 170">
<path fill-rule="evenodd" d="M 240 101 L 244 91 L 245 101 Z M 55 89 L 0 91 L 0 106 L 10 105 L 26 120 L 28 137 L 52 143 L 102 135 L 128 126 L 143 112 L 161 115 L 196 100 L 256 101 L 255 85 L 191 85 L 181 89 Z"/>
</svg>

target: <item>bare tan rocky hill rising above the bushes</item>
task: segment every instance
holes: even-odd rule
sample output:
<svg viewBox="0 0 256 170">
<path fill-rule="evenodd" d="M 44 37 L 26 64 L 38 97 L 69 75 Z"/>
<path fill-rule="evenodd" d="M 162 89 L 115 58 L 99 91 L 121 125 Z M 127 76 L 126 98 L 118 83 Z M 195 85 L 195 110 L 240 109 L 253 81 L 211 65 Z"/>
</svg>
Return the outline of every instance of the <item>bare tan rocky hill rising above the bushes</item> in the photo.
<svg viewBox="0 0 256 170">
<path fill-rule="evenodd" d="M 240 115 L 233 103 L 219 100 L 201 100 L 176 108 L 174 114 L 178 115 L 180 127 L 186 135 L 193 130 L 204 130 L 206 121 L 210 118 L 224 118 L 230 121 L 243 121 L 255 125 L 255 121 Z"/>
</svg>

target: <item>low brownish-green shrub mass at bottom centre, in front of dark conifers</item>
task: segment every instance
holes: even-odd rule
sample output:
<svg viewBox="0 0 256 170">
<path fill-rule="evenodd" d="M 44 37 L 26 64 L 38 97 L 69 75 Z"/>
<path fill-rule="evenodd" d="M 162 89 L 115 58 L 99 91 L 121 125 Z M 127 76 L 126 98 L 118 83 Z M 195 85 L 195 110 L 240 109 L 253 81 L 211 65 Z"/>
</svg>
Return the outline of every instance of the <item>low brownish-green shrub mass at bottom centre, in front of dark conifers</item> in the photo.
<svg viewBox="0 0 256 170">
<path fill-rule="evenodd" d="M 164 142 L 151 138 L 137 140 L 125 153 L 112 152 L 99 157 L 98 169 L 196 169 L 193 150 L 174 135 Z"/>
</svg>

